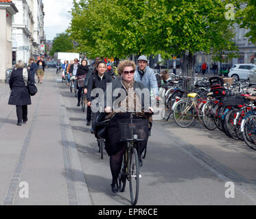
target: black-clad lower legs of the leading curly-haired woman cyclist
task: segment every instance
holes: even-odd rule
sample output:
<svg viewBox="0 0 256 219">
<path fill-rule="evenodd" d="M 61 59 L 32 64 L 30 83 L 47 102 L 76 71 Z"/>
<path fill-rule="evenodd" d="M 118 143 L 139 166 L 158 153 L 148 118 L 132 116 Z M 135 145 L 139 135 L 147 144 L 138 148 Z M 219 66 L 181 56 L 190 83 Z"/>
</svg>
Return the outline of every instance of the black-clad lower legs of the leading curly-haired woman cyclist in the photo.
<svg viewBox="0 0 256 219">
<path fill-rule="evenodd" d="M 147 141 L 148 142 L 148 141 Z M 139 144 L 139 157 L 141 157 L 142 152 L 146 148 L 147 142 L 140 142 Z M 112 181 L 117 181 L 119 172 L 121 170 L 121 163 L 123 162 L 123 155 L 125 151 L 125 147 L 123 146 L 120 151 L 118 151 L 115 155 L 110 155 L 110 170 L 112 174 Z"/>
</svg>

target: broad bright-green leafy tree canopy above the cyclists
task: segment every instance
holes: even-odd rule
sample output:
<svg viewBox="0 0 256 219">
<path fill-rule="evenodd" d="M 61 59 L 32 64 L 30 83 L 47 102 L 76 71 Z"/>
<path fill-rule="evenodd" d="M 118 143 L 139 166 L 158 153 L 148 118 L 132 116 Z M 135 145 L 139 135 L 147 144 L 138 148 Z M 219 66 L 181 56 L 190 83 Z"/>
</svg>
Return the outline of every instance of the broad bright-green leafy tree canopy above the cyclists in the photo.
<svg viewBox="0 0 256 219">
<path fill-rule="evenodd" d="M 88 56 L 126 57 L 131 54 L 165 58 L 210 53 L 228 45 L 224 28 L 226 4 L 239 0 L 81 0 L 74 1 L 69 33 Z M 214 37 L 213 37 L 214 36 Z M 227 47 L 226 49 L 232 49 Z"/>
</svg>

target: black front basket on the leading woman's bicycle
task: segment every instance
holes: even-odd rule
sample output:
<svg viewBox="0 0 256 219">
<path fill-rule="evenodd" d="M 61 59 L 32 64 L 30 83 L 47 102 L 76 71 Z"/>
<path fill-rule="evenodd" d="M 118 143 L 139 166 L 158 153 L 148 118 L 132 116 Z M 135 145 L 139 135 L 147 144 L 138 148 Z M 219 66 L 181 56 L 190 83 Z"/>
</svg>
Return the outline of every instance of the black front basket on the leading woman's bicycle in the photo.
<svg viewBox="0 0 256 219">
<path fill-rule="evenodd" d="M 129 119 L 119 121 L 121 142 L 132 140 L 137 135 L 137 140 L 146 141 L 148 139 L 148 119 L 133 118 L 132 123 Z"/>
</svg>

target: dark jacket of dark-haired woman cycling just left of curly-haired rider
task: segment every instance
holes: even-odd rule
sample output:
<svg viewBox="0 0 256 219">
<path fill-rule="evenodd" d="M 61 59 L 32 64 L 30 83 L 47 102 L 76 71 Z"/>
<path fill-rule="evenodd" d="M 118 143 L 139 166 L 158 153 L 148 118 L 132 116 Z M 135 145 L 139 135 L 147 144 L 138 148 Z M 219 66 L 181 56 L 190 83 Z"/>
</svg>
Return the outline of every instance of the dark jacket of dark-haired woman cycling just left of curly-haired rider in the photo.
<svg viewBox="0 0 256 219">
<path fill-rule="evenodd" d="M 106 86 L 107 86 L 106 83 L 111 83 L 111 81 L 112 79 L 110 75 L 108 75 L 107 73 L 104 73 L 102 79 L 97 74 L 91 75 L 91 77 L 89 78 L 88 87 L 87 87 L 87 95 L 86 95 L 87 101 L 93 101 L 93 99 L 99 96 L 99 94 L 97 94 L 96 96 L 91 96 L 91 91 L 94 88 L 100 88 L 105 92 Z"/>
</svg>

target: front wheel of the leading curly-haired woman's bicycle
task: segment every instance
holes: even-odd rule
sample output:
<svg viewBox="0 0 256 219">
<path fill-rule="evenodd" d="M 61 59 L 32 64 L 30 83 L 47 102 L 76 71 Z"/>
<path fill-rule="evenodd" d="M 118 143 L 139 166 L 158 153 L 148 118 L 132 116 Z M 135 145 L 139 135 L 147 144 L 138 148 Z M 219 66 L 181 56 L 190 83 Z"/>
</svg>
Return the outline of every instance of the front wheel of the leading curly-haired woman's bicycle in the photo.
<svg viewBox="0 0 256 219">
<path fill-rule="evenodd" d="M 136 205 L 139 197 L 139 158 L 137 149 L 130 152 L 128 179 L 130 183 L 130 202 Z"/>
</svg>

